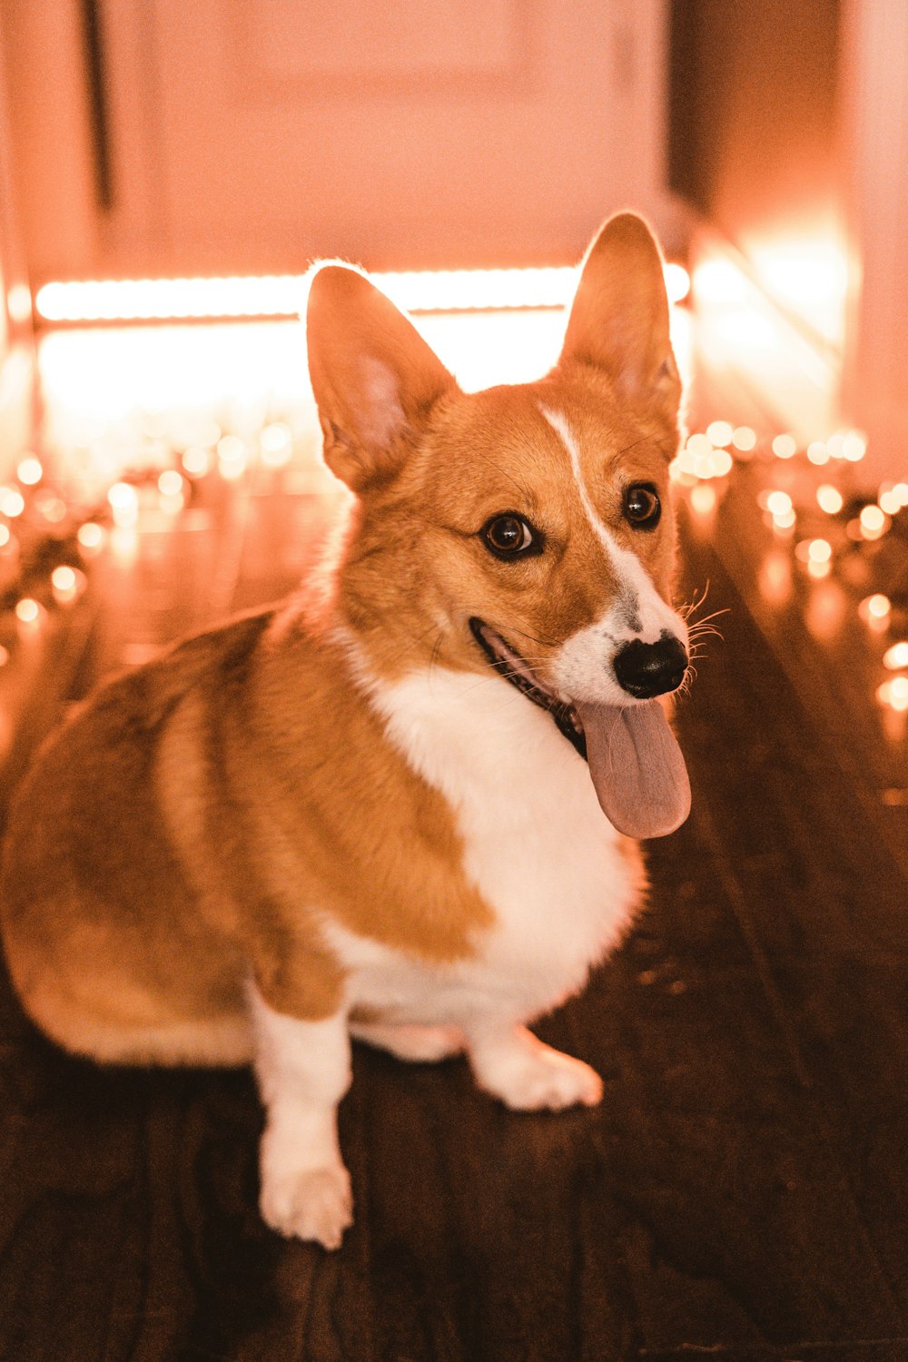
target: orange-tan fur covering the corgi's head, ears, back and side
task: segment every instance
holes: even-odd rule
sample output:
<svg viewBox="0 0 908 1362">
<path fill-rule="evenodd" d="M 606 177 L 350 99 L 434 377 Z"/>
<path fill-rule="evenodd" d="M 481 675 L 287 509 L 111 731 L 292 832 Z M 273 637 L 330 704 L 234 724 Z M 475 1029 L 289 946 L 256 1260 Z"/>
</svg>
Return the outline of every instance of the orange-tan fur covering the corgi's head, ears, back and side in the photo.
<svg viewBox="0 0 908 1362">
<path fill-rule="evenodd" d="M 101 1060 L 242 1062 L 250 979 L 275 1012 L 338 1011 L 344 968 L 325 919 L 423 962 L 479 949 L 494 914 L 463 869 L 456 810 L 388 740 L 369 692 L 433 663 L 481 684 L 474 614 L 551 684 L 558 647 L 600 616 L 613 567 L 542 405 L 565 414 L 599 513 L 668 597 L 678 388 L 660 260 L 643 232 L 619 226 L 611 252 L 594 248 L 547 379 L 476 395 L 358 275 L 314 276 L 325 459 L 358 498 L 338 558 L 282 610 L 106 685 L 12 810 L 7 957 L 61 1045 Z M 643 301 L 623 298 L 626 271 L 645 278 Z M 374 362 L 344 347 L 347 312 Z M 321 316 L 338 326 L 316 330 Z M 656 533 L 623 520 L 617 462 L 626 481 L 659 488 Z M 542 530 L 543 556 L 490 556 L 482 526 L 506 511 Z"/>
</svg>

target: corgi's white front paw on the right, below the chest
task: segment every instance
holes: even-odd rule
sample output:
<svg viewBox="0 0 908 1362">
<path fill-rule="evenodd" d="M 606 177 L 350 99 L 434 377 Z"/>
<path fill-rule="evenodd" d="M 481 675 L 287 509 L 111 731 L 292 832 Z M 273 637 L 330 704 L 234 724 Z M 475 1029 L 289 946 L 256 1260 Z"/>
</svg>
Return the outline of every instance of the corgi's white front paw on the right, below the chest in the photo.
<svg viewBox="0 0 908 1362">
<path fill-rule="evenodd" d="M 467 1032 L 476 1083 L 519 1111 L 595 1106 L 602 1079 L 583 1060 L 543 1045 L 524 1026 L 481 1023 Z"/>
</svg>

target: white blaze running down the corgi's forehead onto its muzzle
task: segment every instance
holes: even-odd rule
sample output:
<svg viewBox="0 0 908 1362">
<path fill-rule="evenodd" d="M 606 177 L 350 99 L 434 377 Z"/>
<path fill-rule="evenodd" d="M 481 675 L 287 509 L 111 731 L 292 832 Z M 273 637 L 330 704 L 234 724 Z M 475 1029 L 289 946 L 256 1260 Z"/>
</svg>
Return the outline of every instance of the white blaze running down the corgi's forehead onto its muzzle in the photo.
<svg viewBox="0 0 908 1362">
<path fill-rule="evenodd" d="M 568 452 L 580 504 L 618 583 L 614 599 L 599 618 L 562 644 L 553 666 L 558 691 L 564 700 L 633 704 L 615 680 L 611 667 L 615 654 L 633 639 L 656 643 L 663 633 L 674 635 L 686 648 L 687 628 L 681 616 L 662 599 L 637 554 L 622 548 L 603 523 L 583 477 L 577 441 L 562 413 L 545 406 L 539 410 Z"/>
</svg>

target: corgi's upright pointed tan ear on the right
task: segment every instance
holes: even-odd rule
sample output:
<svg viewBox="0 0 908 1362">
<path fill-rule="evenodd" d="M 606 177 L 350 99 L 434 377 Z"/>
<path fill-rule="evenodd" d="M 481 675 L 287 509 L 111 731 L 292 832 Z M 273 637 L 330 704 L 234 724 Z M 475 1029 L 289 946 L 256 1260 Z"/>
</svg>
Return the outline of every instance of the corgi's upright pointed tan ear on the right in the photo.
<svg viewBox="0 0 908 1362">
<path fill-rule="evenodd" d="M 674 418 L 681 379 L 668 335 L 663 259 L 633 212 L 610 218 L 587 252 L 558 362 L 572 361 L 603 369 L 629 402 L 658 402 Z"/>
</svg>

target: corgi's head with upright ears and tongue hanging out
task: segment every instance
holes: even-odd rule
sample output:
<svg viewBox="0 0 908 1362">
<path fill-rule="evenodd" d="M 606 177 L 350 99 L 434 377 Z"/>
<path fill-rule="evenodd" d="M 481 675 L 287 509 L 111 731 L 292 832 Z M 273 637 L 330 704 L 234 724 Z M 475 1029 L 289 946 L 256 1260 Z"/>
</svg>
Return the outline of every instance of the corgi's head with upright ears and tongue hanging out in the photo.
<svg viewBox="0 0 908 1362">
<path fill-rule="evenodd" d="M 634 836 L 687 814 L 656 696 L 687 667 L 670 603 L 681 383 L 659 248 L 621 214 L 592 242 L 558 364 L 464 394 L 358 271 L 324 266 L 309 369 L 329 469 L 357 494 L 339 605 L 388 678 L 494 667 L 585 750 Z"/>
</svg>

